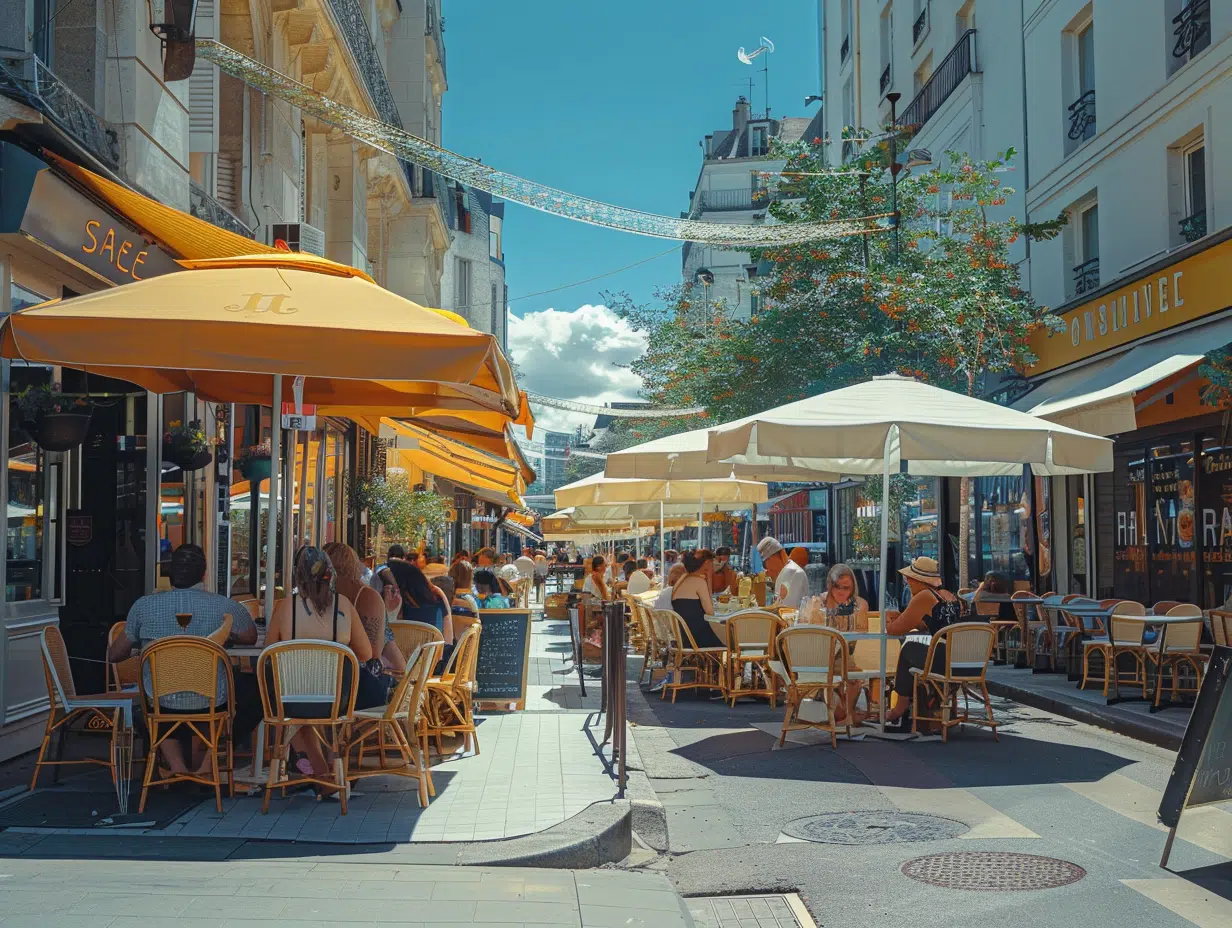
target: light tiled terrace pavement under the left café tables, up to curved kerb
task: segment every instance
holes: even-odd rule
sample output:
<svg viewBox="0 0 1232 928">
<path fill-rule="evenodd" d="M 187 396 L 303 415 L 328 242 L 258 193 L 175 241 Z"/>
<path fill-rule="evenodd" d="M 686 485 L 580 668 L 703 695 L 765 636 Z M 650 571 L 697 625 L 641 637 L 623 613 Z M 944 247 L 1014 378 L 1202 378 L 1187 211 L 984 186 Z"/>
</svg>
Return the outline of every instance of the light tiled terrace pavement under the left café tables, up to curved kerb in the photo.
<svg viewBox="0 0 1232 928">
<path fill-rule="evenodd" d="M 593 804 L 609 804 L 616 785 L 594 752 L 602 737 L 585 723 L 599 705 L 599 682 L 580 696 L 568 626 L 537 617 L 532 625 L 527 706 L 479 717 L 479 754 L 453 755 L 432 767 L 436 796 L 419 808 L 414 780 L 361 780 L 349 813 L 312 795 L 275 794 L 267 815 L 261 792 L 196 805 L 163 829 L 113 829 L 128 837 L 239 838 L 341 844 L 483 842 L 559 826 Z M 138 774 L 139 776 L 139 774 Z M 73 789 L 73 780 L 60 789 Z M 81 789 L 78 785 L 76 789 Z M 25 795 L 25 794 L 22 794 Z M 602 818 L 602 817 L 598 817 Z M 604 820 L 606 821 L 606 820 Z M 99 834 L 99 829 L 10 828 L 9 833 Z"/>
</svg>

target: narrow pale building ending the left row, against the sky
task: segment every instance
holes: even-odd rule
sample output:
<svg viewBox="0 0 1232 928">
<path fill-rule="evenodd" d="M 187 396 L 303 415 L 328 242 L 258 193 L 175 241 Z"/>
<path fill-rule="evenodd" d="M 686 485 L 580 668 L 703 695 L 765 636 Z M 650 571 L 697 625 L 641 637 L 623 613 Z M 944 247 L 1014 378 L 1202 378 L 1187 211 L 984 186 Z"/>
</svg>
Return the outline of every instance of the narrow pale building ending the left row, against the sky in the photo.
<svg viewBox="0 0 1232 928">
<path fill-rule="evenodd" d="M 508 288 L 503 227 L 505 203 L 492 193 L 450 186 L 457 222 L 445 256 L 441 308 L 466 317 L 471 327 L 490 332 L 505 344 Z"/>
</svg>

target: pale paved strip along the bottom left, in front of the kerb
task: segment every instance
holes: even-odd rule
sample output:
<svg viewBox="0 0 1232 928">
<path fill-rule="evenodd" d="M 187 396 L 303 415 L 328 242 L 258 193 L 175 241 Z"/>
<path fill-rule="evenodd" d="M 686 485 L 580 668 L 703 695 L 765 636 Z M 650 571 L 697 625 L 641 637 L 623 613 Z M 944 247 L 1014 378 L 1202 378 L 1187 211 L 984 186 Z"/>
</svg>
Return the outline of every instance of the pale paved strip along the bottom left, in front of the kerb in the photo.
<svg viewBox="0 0 1232 928">
<path fill-rule="evenodd" d="M 691 928 L 662 874 L 363 863 L 0 861 L 4 928 Z"/>
</svg>

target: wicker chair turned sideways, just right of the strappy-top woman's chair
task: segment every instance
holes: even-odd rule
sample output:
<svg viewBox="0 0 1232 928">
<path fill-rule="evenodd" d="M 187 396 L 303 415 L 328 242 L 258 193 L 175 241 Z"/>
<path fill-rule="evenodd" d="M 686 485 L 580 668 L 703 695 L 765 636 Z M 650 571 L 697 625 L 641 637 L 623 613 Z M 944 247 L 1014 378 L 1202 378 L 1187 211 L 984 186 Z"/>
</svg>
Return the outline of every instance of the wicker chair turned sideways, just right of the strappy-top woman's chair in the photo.
<svg viewBox="0 0 1232 928">
<path fill-rule="evenodd" d="M 428 679 L 440 659 L 442 641 L 425 641 L 411 652 L 407 673 L 383 709 L 362 709 L 355 712 L 349 749 L 355 752 L 347 764 L 349 783 L 365 776 L 410 776 L 419 783 L 419 807 L 428 806 L 428 752 L 419 736 L 419 722 L 424 714 Z M 365 767 L 363 755 L 376 742 L 377 767 Z M 397 763 L 388 764 L 389 752 L 395 752 Z"/>
</svg>

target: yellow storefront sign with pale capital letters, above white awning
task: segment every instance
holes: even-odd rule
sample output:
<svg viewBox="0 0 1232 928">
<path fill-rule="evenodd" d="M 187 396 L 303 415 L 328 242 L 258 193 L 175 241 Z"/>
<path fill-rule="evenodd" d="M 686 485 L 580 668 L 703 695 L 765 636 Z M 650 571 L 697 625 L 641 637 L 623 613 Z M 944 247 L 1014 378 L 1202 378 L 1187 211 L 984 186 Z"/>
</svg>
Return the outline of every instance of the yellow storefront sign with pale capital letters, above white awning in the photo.
<svg viewBox="0 0 1232 928">
<path fill-rule="evenodd" d="M 1140 274 L 1119 290 L 1062 314 L 1064 332 L 1037 332 L 1030 376 L 1170 329 L 1232 304 L 1232 240 L 1167 267 Z"/>
</svg>

